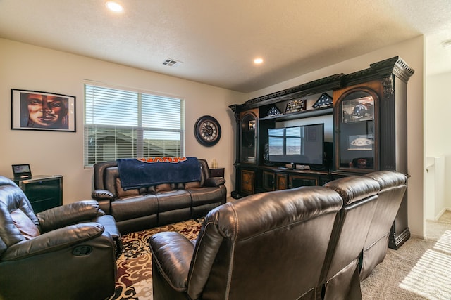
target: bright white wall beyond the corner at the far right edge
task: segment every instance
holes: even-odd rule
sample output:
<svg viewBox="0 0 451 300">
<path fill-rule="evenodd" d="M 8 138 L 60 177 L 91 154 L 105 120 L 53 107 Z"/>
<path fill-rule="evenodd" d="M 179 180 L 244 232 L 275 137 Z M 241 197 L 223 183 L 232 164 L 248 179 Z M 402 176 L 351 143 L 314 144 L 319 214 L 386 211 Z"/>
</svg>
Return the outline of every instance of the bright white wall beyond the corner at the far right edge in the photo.
<svg viewBox="0 0 451 300">
<path fill-rule="evenodd" d="M 431 209 L 431 219 L 437 219 L 443 210 L 451 209 L 451 185 L 446 184 L 451 180 L 451 140 L 447 133 L 447 119 L 451 111 L 450 82 L 451 73 L 435 74 L 426 78 L 425 153 L 427 157 L 444 157 L 445 169 L 444 190 L 440 188 L 438 191 L 443 193 L 443 199 L 433 197 L 430 193 L 425 195 L 426 205 L 430 202 L 434 205 Z"/>
</svg>

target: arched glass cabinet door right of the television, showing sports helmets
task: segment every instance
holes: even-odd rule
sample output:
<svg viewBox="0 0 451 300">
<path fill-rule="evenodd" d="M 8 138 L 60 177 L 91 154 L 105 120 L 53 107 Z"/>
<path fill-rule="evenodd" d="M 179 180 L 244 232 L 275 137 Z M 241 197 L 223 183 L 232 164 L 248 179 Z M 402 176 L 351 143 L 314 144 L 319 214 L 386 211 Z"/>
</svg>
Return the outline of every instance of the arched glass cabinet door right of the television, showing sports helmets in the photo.
<svg viewBox="0 0 451 300">
<path fill-rule="evenodd" d="M 338 91 L 335 96 L 335 170 L 378 170 L 378 93 L 365 85 Z"/>
</svg>

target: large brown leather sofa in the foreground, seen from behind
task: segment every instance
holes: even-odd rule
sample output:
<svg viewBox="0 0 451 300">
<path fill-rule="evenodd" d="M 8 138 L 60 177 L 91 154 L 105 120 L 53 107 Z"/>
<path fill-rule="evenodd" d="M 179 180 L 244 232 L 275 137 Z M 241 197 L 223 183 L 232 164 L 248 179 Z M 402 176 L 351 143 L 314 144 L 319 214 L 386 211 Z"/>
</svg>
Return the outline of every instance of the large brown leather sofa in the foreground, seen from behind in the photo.
<svg viewBox="0 0 451 300">
<path fill-rule="evenodd" d="M 210 211 L 194 242 L 157 233 L 149 240 L 154 300 L 362 299 L 359 261 L 378 197 L 406 182 L 381 171 L 260 193 Z"/>
</svg>

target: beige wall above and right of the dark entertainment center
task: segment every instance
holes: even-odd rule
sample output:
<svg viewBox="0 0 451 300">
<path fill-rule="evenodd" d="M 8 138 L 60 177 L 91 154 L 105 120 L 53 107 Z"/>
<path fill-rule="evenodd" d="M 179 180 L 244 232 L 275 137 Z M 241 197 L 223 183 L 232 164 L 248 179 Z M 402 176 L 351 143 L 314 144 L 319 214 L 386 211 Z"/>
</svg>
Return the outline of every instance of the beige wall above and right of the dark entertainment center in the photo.
<svg viewBox="0 0 451 300">
<path fill-rule="evenodd" d="M 407 124 L 408 124 L 408 161 L 407 169 L 409 175 L 408 187 L 408 215 L 409 228 L 414 236 L 424 236 L 424 203 L 423 203 L 423 182 L 424 182 L 424 127 L 423 127 L 423 99 L 424 99 L 424 37 L 416 37 L 381 48 L 364 56 L 345 60 L 342 63 L 305 74 L 288 81 L 284 81 L 274 86 L 268 86 L 248 94 L 248 98 L 256 98 L 268 93 L 288 89 L 292 86 L 304 84 L 312 80 L 330 76 L 338 73 L 349 74 L 359 70 L 364 70 L 371 63 L 376 63 L 386 58 L 400 56 L 406 63 L 415 70 L 407 84 Z M 448 81 L 449 82 L 449 81 Z M 445 85 L 444 85 L 445 86 Z M 450 104 L 451 105 L 451 104 Z M 446 110 L 445 110 L 446 111 Z"/>
</svg>

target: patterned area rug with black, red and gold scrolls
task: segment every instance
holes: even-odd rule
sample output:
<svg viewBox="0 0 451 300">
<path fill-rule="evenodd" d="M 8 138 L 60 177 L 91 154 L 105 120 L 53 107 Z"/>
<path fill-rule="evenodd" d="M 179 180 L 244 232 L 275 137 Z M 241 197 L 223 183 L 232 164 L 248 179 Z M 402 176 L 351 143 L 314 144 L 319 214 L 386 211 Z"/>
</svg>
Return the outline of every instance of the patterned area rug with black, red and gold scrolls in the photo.
<svg viewBox="0 0 451 300">
<path fill-rule="evenodd" d="M 152 300 L 149 237 L 162 231 L 176 231 L 194 240 L 201 227 L 202 219 L 196 219 L 123 235 L 124 251 L 117 261 L 116 290 L 108 299 Z"/>
</svg>

